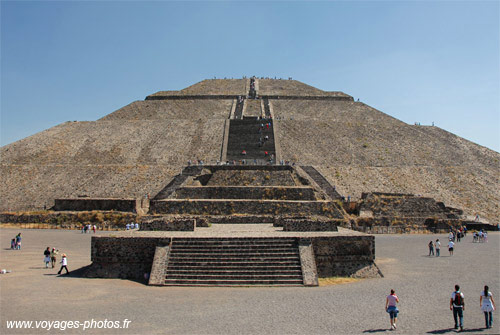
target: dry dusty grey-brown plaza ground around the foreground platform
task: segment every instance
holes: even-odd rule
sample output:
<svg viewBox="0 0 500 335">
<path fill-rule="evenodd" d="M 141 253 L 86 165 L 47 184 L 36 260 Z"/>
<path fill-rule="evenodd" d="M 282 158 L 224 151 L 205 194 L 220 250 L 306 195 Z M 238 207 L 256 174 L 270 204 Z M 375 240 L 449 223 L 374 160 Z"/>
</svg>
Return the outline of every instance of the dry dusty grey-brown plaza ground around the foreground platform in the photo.
<svg viewBox="0 0 500 335">
<path fill-rule="evenodd" d="M 396 333 L 446 334 L 453 318 L 448 309 L 453 285 L 465 294 L 465 327 L 483 330 L 479 294 L 489 284 L 500 303 L 500 234 L 489 242 L 468 236 L 455 255 L 427 257 L 427 243 L 445 235 L 378 235 L 377 263 L 385 278 L 316 288 L 148 287 L 119 279 L 57 276 L 45 269 L 42 252 L 56 246 L 69 256 L 70 270 L 90 263 L 90 235 L 78 231 L 22 230 L 21 251 L 8 250 L 18 230 L 0 229 L 2 334 L 53 334 L 61 330 L 7 329 L 11 320 L 130 320 L 127 329 L 66 329 L 85 334 L 363 334 L 389 333 L 385 296 L 396 290 L 401 314 Z M 123 326 L 123 323 L 120 323 Z"/>
</svg>

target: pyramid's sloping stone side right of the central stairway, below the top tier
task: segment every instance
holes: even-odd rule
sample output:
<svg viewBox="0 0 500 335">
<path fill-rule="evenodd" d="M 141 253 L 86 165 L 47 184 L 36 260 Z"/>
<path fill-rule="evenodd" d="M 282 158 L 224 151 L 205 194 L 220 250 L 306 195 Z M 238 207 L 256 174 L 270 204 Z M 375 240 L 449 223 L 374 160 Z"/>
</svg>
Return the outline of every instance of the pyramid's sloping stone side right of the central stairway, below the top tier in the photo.
<svg viewBox="0 0 500 335">
<path fill-rule="evenodd" d="M 272 104 L 284 118 L 275 121 L 283 159 L 317 166 L 345 196 L 413 193 L 494 222 L 500 216 L 500 155 L 493 150 L 359 102 Z"/>
</svg>

